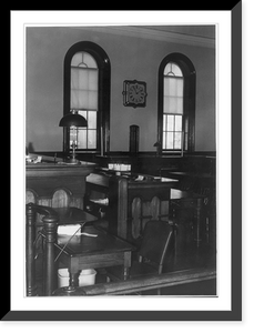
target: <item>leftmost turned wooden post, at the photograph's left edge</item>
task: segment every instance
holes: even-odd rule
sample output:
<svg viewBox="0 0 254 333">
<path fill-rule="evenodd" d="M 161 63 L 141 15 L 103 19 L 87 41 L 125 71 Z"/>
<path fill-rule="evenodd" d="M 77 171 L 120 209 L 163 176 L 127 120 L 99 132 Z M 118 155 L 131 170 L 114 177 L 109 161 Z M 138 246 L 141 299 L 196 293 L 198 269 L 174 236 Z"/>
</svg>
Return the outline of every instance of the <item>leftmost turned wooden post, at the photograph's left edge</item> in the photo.
<svg viewBox="0 0 254 333">
<path fill-rule="evenodd" d="M 34 251 L 34 235 L 35 235 L 35 211 L 33 204 L 29 203 L 26 206 L 26 272 L 27 272 L 27 296 L 35 296 L 35 251 Z"/>
</svg>

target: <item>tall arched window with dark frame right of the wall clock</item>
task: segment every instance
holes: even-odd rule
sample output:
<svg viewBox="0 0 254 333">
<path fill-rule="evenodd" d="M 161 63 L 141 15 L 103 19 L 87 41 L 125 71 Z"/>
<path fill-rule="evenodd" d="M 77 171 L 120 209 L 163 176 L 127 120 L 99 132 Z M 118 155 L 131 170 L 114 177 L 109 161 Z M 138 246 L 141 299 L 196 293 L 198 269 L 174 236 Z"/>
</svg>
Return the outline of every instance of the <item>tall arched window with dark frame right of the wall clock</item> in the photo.
<svg viewBox="0 0 254 333">
<path fill-rule="evenodd" d="M 166 56 L 160 64 L 158 114 L 161 152 L 193 151 L 195 70 L 181 53 Z"/>
</svg>

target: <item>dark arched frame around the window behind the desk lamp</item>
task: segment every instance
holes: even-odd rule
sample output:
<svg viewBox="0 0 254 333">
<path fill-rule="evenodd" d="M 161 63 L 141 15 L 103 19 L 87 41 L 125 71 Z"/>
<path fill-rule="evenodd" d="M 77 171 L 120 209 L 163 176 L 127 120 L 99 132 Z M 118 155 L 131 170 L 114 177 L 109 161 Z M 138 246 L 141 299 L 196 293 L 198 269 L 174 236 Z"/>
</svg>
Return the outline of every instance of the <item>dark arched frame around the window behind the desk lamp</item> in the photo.
<svg viewBox="0 0 254 333">
<path fill-rule="evenodd" d="M 99 69 L 96 150 L 82 149 L 79 153 L 104 153 L 110 150 L 110 87 L 111 63 L 106 52 L 96 43 L 81 41 L 73 44 L 65 53 L 63 62 L 63 115 L 70 113 L 71 101 L 71 60 L 77 52 L 90 53 Z M 70 152 L 70 131 L 63 128 L 63 153 Z"/>
</svg>

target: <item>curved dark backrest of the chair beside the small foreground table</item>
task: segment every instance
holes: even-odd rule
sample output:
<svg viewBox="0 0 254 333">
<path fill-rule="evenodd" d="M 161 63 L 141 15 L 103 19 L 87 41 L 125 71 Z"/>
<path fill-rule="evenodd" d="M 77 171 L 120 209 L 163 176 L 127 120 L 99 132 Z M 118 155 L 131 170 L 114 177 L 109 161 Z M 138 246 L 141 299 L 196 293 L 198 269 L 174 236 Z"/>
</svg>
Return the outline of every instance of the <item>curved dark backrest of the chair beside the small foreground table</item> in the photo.
<svg viewBox="0 0 254 333">
<path fill-rule="evenodd" d="M 163 265 L 172 236 L 173 226 L 169 222 L 162 220 L 148 221 L 144 226 L 139 254 L 158 265 Z"/>
</svg>

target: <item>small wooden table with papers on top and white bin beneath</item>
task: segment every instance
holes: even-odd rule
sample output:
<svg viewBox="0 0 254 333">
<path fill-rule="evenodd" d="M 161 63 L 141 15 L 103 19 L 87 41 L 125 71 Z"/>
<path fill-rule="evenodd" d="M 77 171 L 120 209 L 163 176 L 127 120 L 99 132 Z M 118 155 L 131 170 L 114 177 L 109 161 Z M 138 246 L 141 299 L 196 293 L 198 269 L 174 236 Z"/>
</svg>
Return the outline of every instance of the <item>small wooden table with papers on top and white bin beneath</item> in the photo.
<svg viewBox="0 0 254 333">
<path fill-rule="evenodd" d="M 59 260 L 68 266 L 70 273 L 67 293 L 75 291 L 79 286 L 80 271 L 85 269 L 123 265 L 124 280 L 126 280 L 131 266 L 131 253 L 135 248 L 94 226 L 84 226 L 82 231 L 96 236 L 74 235 L 69 242 L 70 235 L 58 235 L 55 242 L 57 255 L 61 252 Z"/>
</svg>

